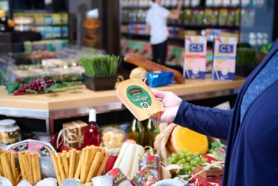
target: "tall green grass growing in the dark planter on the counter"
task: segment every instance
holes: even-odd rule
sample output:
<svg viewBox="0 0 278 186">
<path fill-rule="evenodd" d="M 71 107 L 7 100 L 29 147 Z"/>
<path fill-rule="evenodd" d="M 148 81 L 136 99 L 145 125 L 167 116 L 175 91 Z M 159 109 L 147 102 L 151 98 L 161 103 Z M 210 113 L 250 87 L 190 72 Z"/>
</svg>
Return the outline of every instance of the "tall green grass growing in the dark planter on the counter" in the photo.
<svg viewBox="0 0 278 186">
<path fill-rule="evenodd" d="M 78 63 L 83 66 L 87 75 L 95 77 L 117 74 L 121 61 L 120 56 L 96 54 L 82 56 Z"/>
</svg>

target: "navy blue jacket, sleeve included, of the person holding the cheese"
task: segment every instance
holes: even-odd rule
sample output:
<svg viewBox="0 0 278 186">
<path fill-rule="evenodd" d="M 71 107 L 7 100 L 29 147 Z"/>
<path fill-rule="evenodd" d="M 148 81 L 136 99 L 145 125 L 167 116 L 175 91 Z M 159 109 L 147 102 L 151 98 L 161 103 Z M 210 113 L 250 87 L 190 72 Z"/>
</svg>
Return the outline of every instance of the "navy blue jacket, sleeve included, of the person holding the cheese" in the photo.
<svg viewBox="0 0 278 186">
<path fill-rule="evenodd" d="M 244 117 L 240 116 L 245 93 L 254 92 L 248 91 L 252 82 L 256 82 L 268 63 L 278 65 L 277 51 L 278 41 L 247 77 L 234 110 L 199 107 L 183 101 L 174 119 L 174 123 L 196 132 L 227 139 L 224 186 L 278 185 L 278 81 L 275 79 L 261 89 L 250 104 L 243 107 Z"/>
</svg>

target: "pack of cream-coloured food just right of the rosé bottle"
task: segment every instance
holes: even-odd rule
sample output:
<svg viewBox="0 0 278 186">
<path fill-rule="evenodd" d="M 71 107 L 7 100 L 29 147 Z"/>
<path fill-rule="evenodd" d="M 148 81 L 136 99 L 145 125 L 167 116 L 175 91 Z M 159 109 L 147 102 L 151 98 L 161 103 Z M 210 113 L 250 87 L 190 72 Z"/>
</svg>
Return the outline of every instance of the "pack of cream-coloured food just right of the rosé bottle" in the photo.
<svg viewBox="0 0 278 186">
<path fill-rule="evenodd" d="M 106 127 L 102 132 L 102 142 L 106 148 L 120 148 L 124 143 L 126 134 L 115 127 Z"/>
</svg>

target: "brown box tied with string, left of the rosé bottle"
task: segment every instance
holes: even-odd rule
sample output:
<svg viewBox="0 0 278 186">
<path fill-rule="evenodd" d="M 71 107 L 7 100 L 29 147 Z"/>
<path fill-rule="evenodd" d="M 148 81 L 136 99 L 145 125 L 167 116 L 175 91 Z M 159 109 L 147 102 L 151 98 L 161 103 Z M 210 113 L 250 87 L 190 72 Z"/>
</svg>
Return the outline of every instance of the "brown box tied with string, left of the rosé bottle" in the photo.
<svg viewBox="0 0 278 186">
<path fill-rule="evenodd" d="M 83 134 L 88 127 L 83 121 L 72 121 L 63 123 L 63 141 L 69 148 L 80 148 L 83 146 Z"/>
</svg>

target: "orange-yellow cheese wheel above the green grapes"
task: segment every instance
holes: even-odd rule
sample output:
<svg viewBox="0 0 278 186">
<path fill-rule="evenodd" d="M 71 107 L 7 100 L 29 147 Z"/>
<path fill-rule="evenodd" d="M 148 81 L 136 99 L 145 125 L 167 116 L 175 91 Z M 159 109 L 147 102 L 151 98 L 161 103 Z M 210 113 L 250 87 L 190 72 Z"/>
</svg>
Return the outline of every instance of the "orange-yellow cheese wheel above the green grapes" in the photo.
<svg viewBox="0 0 278 186">
<path fill-rule="evenodd" d="M 186 127 L 177 126 L 171 134 L 170 146 L 175 151 L 188 150 L 189 153 L 205 154 L 208 138 Z"/>
</svg>

